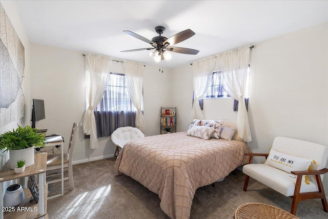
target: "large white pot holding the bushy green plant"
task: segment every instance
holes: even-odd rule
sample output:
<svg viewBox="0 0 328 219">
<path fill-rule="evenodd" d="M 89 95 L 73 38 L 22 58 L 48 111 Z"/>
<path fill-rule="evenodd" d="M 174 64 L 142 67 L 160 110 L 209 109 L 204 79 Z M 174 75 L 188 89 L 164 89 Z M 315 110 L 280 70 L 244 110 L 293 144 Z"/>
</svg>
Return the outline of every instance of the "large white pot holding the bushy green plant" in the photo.
<svg viewBox="0 0 328 219">
<path fill-rule="evenodd" d="M 21 150 L 9 150 L 10 169 L 17 167 L 17 161 L 25 160 L 25 166 L 29 167 L 34 164 L 34 146 Z"/>
</svg>

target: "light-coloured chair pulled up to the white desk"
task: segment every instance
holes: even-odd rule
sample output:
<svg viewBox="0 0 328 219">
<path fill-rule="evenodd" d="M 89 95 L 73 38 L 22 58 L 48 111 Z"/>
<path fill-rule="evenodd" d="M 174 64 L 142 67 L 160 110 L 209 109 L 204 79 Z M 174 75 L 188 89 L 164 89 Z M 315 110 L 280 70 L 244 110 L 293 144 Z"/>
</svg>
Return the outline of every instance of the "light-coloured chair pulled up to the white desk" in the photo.
<svg viewBox="0 0 328 219">
<path fill-rule="evenodd" d="M 75 144 L 77 129 L 78 129 L 78 125 L 77 125 L 77 123 L 74 123 L 73 128 L 72 128 L 71 137 L 70 137 L 69 146 L 68 146 L 68 153 L 64 153 L 64 171 L 68 170 L 68 177 L 65 177 L 64 180 L 69 180 L 71 190 L 74 190 L 72 162 L 73 162 L 73 151 L 74 151 L 74 144 Z M 61 148 L 61 150 L 64 150 L 64 148 Z M 51 174 L 60 169 L 61 169 L 61 153 L 48 155 L 48 158 L 47 158 L 47 174 L 48 174 L 48 176 L 49 176 L 49 173 Z M 52 176 L 50 175 L 50 177 L 52 177 Z M 56 183 L 59 181 L 61 181 L 61 179 L 47 181 L 47 183 L 51 184 L 51 183 Z"/>
</svg>

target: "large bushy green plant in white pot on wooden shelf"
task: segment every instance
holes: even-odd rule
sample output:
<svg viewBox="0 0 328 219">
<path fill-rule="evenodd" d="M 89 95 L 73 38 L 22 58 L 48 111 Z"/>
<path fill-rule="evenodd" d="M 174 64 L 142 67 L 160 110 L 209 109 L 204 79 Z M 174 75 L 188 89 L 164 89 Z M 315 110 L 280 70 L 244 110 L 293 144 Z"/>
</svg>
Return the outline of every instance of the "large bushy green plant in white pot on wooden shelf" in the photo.
<svg viewBox="0 0 328 219">
<path fill-rule="evenodd" d="M 44 134 L 38 134 L 30 126 L 18 126 L 16 130 L 0 135 L 0 150 L 9 150 L 10 169 L 15 169 L 19 160 L 26 161 L 26 167 L 34 164 L 34 146 L 45 147 Z"/>
</svg>

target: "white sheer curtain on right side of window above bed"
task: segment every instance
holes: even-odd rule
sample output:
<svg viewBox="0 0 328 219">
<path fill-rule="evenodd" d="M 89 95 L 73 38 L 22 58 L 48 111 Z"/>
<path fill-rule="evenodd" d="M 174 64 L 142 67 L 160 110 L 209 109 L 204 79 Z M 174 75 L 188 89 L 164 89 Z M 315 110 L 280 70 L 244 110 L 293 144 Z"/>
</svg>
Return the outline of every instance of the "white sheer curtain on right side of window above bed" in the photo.
<svg viewBox="0 0 328 219">
<path fill-rule="evenodd" d="M 248 114 L 244 95 L 247 92 L 249 79 L 250 47 L 242 47 L 237 50 L 221 53 L 217 56 L 218 68 L 223 76 L 223 89 L 234 99 L 239 101 L 237 112 L 238 137 L 244 142 L 252 141 Z"/>
</svg>

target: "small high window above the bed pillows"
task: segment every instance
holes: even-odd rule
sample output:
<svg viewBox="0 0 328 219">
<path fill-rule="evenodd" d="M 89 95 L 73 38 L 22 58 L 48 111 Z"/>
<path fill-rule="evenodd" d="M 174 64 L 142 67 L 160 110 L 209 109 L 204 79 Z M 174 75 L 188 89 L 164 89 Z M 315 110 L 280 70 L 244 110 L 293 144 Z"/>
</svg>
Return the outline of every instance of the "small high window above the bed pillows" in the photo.
<svg viewBox="0 0 328 219">
<path fill-rule="evenodd" d="M 203 98 L 222 98 L 230 97 L 229 94 L 223 89 L 223 78 L 221 71 L 215 71 L 211 75 L 210 85 L 208 91 Z"/>
</svg>

